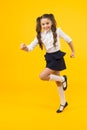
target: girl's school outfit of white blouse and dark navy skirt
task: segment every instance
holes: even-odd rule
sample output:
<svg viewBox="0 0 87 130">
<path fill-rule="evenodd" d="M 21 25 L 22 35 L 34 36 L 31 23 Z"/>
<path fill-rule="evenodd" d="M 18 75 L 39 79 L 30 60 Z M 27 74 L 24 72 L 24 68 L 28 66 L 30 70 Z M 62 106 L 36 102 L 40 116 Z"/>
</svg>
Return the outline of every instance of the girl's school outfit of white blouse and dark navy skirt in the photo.
<svg viewBox="0 0 87 130">
<path fill-rule="evenodd" d="M 56 47 L 54 47 L 53 33 L 52 30 L 46 32 L 41 32 L 41 40 L 43 42 L 44 48 L 46 50 L 45 60 L 46 67 L 52 70 L 61 71 L 66 69 L 66 64 L 64 60 L 65 52 L 60 50 L 60 38 L 63 38 L 67 43 L 70 43 L 72 39 L 65 33 L 61 28 L 57 28 L 57 42 Z M 37 37 L 27 45 L 28 50 L 33 50 L 38 45 Z"/>
</svg>

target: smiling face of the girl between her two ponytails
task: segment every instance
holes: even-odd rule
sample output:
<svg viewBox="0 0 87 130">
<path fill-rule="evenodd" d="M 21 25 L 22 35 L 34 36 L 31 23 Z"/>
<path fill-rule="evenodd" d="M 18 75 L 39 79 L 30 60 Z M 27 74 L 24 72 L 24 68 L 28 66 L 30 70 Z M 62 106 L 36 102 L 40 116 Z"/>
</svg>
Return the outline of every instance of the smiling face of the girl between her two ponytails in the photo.
<svg viewBox="0 0 87 130">
<path fill-rule="evenodd" d="M 41 19 L 41 28 L 42 30 L 48 32 L 51 29 L 52 21 L 48 18 Z"/>
</svg>

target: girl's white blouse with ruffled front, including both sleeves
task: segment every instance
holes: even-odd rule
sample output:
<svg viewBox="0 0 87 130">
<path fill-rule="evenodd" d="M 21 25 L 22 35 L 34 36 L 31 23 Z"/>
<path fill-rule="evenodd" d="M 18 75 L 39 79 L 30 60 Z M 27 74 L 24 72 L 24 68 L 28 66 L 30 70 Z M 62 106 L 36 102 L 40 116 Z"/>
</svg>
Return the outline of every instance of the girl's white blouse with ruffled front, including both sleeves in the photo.
<svg viewBox="0 0 87 130">
<path fill-rule="evenodd" d="M 54 40 L 52 30 L 48 32 L 44 31 L 41 33 L 41 40 L 44 44 L 46 52 L 48 53 L 60 50 L 60 38 L 63 38 L 67 43 L 70 43 L 72 41 L 72 39 L 66 33 L 64 33 L 61 28 L 57 28 L 56 33 L 57 33 L 56 47 L 54 47 L 53 45 Z M 36 45 L 38 45 L 37 37 L 29 45 L 27 45 L 27 48 L 29 51 L 31 51 L 36 47 Z"/>
</svg>

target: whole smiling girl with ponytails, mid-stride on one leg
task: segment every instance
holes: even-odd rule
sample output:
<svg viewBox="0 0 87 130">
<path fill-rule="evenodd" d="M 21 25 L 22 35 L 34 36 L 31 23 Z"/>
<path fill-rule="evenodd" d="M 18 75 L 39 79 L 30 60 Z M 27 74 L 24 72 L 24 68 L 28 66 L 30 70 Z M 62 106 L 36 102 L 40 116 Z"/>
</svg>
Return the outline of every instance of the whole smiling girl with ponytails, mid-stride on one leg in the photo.
<svg viewBox="0 0 87 130">
<path fill-rule="evenodd" d="M 60 28 L 56 28 L 56 20 L 53 14 L 43 14 L 36 19 L 36 38 L 29 45 L 22 43 L 20 48 L 31 51 L 39 44 L 40 48 L 46 50 L 46 67 L 40 73 L 41 80 L 54 80 L 58 86 L 60 106 L 57 113 L 60 113 L 68 105 L 64 90 L 67 88 L 67 76 L 60 76 L 60 71 L 66 69 L 64 56 L 65 52 L 60 50 L 60 38 L 63 38 L 71 49 L 70 57 L 74 57 L 74 47 L 72 39 Z"/>
</svg>

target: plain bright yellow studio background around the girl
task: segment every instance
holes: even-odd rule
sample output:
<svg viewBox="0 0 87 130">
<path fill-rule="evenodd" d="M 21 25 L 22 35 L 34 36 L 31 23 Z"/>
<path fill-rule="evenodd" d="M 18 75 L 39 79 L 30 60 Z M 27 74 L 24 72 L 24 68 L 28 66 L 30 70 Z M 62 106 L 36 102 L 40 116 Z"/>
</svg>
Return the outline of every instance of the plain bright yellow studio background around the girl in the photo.
<svg viewBox="0 0 87 130">
<path fill-rule="evenodd" d="M 68 76 L 65 92 L 69 106 L 57 114 L 59 96 L 54 82 L 39 79 L 45 67 L 39 47 L 26 53 L 20 43 L 29 44 L 36 35 L 36 18 L 55 15 L 57 26 L 69 34 L 76 57 L 61 40 Z M 86 0 L 0 1 L 0 130 L 87 129 L 87 4 Z"/>
</svg>

